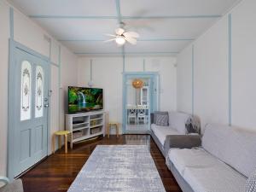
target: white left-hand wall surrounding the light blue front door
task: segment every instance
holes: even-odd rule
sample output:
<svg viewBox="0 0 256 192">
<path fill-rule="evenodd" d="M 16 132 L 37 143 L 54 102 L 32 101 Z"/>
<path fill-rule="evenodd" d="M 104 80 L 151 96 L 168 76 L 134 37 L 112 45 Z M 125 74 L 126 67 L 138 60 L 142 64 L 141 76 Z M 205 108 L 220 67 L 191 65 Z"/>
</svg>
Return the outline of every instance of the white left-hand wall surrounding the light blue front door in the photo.
<svg viewBox="0 0 256 192">
<path fill-rule="evenodd" d="M 8 133 L 8 68 L 9 68 L 9 8 L 11 6 L 4 0 L 0 0 L 0 99 L 2 101 L 0 111 L 0 175 L 6 175 L 7 172 L 7 133 Z M 77 57 L 73 55 L 68 49 L 59 44 L 52 38 L 48 32 L 45 32 L 40 26 L 30 20 L 26 15 L 20 13 L 19 10 L 14 9 L 14 39 L 20 44 L 37 51 L 39 54 L 49 57 L 49 50 L 51 45 L 51 90 L 52 96 L 50 98 L 50 132 L 63 129 L 63 114 L 64 114 L 64 95 L 61 94 L 59 98 L 59 46 L 61 46 L 61 86 L 63 90 L 68 84 L 77 83 Z M 44 38 L 47 36 L 47 38 Z M 68 78 L 63 78 L 67 77 Z M 61 126 L 59 125 L 59 103 L 61 104 Z M 50 151 L 49 151 L 50 152 Z"/>
</svg>

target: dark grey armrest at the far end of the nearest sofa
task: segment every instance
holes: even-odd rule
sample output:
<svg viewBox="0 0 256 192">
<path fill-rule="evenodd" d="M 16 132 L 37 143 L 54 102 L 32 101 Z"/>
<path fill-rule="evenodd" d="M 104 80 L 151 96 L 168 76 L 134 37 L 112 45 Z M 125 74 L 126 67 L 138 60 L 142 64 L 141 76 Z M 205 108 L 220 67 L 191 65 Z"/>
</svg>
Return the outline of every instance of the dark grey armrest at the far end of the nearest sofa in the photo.
<svg viewBox="0 0 256 192">
<path fill-rule="evenodd" d="M 164 149 L 167 153 L 170 148 L 195 148 L 200 146 L 200 135 L 170 135 L 166 136 Z"/>
</svg>

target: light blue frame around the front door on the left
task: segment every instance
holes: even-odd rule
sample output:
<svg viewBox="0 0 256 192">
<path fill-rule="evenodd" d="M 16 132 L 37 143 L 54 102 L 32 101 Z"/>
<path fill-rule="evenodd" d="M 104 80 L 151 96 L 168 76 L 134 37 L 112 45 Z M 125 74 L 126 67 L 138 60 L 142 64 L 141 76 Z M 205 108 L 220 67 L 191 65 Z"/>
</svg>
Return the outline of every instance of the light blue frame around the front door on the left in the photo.
<svg viewBox="0 0 256 192">
<path fill-rule="evenodd" d="M 32 49 L 29 49 L 23 44 L 20 44 L 16 42 L 15 40 L 9 38 L 9 83 L 8 83 L 8 142 L 7 142 L 7 176 L 12 181 L 15 178 L 15 170 L 14 170 L 14 157 L 15 157 L 15 142 L 14 142 L 14 135 L 15 135 L 15 121 L 13 120 L 12 114 L 15 113 L 15 107 L 14 105 L 15 101 L 15 90 L 13 89 L 15 85 L 15 79 L 12 77 L 15 73 L 15 49 L 20 49 L 27 54 L 33 55 L 38 57 L 41 60 L 44 60 L 48 63 L 48 89 L 50 89 L 50 77 L 51 77 L 51 71 L 50 71 L 50 61 L 49 57 L 39 54 L 37 51 L 34 51 Z M 49 94 L 49 90 L 48 90 Z M 49 103 L 50 103 L 50 96 L 49 97 Z M 49 141 L 50 141 L 50 110 L 47 108 L 47 155 L 49 154 Z"/>
</svg>

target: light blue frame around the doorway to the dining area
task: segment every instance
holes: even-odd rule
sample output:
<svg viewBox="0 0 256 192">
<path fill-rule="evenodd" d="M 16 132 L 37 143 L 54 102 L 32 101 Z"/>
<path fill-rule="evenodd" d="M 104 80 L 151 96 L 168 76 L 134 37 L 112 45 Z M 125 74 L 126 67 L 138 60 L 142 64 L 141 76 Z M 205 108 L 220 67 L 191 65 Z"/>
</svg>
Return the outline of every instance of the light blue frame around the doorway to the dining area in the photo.
<svg viewBox="0 0 256 192">
<path fill-rule="evenodd" d="M 122 130 L 123 130 L 123 134 L 125 134 L 125 125 L 127 122 L 127 115 L 125 112 L 125 105 L 126 105 L 126 100 L 127 100 L 127 91 L 126 91 L 126 80 L 128 79 L 129 76 L 133 76 L 134 78 L 149 78 L 149 79 L 155 79 L 156 84 L 154 86 L 154 89 L 156 89 L 156 103 L 154 103 L 155 105 L 155 110 L 158 110 L 159 108 L 159 104 L 160 104 L 160 74 L 158 72 L 124 72 L 123 73 L 123 126 L 122 126 Z M 151 95 L 151 93 L 150 93 Z M 151 96 L 149 96 L 151 97 Z M 151 101 L 150 101 L 151 102 Z M 150 120 L 150 114 L 149 114 L 149 120 Z"/>
</svg>

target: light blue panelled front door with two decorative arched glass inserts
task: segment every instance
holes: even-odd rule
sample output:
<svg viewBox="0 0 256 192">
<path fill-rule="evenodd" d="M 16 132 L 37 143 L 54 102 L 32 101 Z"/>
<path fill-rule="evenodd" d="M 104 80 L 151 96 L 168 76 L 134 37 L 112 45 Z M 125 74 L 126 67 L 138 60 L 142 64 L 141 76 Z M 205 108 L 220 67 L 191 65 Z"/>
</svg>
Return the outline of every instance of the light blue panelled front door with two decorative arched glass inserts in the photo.
<svg viewBox="0 0 256 192">
<path fill-rule="evenodd" d="M 23 49 L 15 48 L 13 56 L 9 93 L 14 94 L 10 96 L 14 99 L 10 105 L 14 127 L 9 139 L 13 141 L 14 154 L 9 163 L 16 177 L 47 155 L 49 66 L 47 61 Z"/>
</svg>

